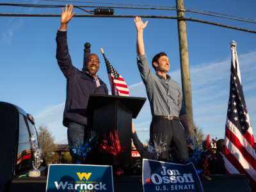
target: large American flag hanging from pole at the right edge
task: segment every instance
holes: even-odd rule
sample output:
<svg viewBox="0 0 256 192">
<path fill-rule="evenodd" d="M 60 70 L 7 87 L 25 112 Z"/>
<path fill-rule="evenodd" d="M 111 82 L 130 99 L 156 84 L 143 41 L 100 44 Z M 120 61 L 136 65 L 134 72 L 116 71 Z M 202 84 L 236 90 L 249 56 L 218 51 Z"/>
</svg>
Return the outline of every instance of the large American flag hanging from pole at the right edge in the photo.
<svg viewBox="0 0 256 192">
<path fill-rule="evenodd" d="M 232 51 L 230 93 L 225 126 L 225 167 L 228 173 L 245 174 L 256 191 L 256 153 L 252 125 L 244 100 L 241 74 L 236 53 L 236 42 L 230 44 Z"/>
</svg>

